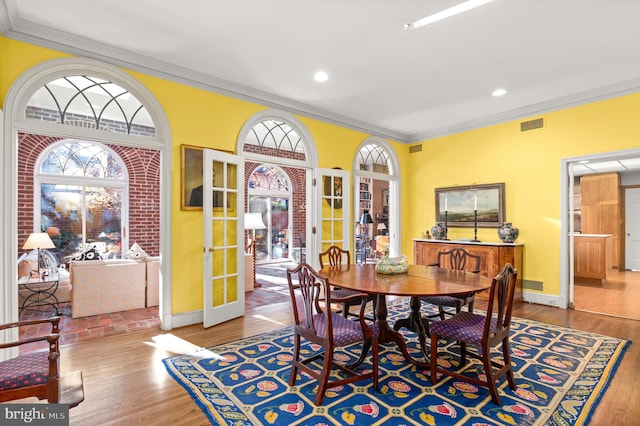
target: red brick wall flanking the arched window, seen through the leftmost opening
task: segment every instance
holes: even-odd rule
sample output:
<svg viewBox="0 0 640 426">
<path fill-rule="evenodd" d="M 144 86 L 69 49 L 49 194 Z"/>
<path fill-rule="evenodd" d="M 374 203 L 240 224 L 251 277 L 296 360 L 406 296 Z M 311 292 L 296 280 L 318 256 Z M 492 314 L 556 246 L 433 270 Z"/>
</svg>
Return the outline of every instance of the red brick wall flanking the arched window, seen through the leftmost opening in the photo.
<svg viewBox="0 0 640 426">
<path fill-rule="evenodd" d="M 63 138 L 18 136 L 18 253 L 33 232 L 33 172 L 40 153 Z M 129 244 L 137 242 L 147 254 L 160 253 L 160 152 L 109 145 L 129 174 Z M 125 248 L 126 249 L 126 248 Z"/>
</svg>

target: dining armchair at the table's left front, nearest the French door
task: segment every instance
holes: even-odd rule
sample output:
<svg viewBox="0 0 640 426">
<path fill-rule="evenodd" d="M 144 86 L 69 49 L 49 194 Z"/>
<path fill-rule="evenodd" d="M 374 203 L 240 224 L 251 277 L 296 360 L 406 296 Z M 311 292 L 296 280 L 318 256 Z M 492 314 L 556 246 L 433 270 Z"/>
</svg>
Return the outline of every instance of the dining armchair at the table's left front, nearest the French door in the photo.
<svg viewBox="0 0 640 426">
<path fill-rule="evenodd" d="M 327 389 L 343 386 L 352 382 L 373 379 L 374 389 L 378 389 L 378 335 L 379 329 L 373 323 L 367 323 L 364 317 L 366 294 L 356 293 L 345 298 L 334 298 L 331 285 L 308 264 L 301 263 L 295 269 L 287 269 L 287 283 L 291 294 L 294 317 L 294 349 L 289 385 L 294 386 L 301 370 L 318 381 L 315 405 L 322 405 Z M 329 305 L 334 302 L 360 300 L 358 321 L 344 318 L 332 312 Z M 323 308 L 324 307 L 324 308 Z M 321 346 L 324 350 L 301 358 L 302 339 Z M 334 360 L 334 351 L 340 347 L 362 342 L 362 356 L 371 348 L 371 369 L 357 372 L 359 365 L 342 364 Z M 306 353 L 306 351 L 305 351 Z M 324 358 L 323 362 L 316 362 Z M 335 378 L 332 367 L 344 373 Z M 331 379 L 331 380 L 330 380 Z"/>
</svg>

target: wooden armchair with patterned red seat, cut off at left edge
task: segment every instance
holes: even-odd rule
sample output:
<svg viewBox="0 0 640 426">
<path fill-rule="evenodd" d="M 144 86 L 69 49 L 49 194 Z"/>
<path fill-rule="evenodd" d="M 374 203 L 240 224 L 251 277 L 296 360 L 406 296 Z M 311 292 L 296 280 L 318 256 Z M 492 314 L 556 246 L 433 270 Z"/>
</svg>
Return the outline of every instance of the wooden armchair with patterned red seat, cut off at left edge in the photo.
<svg viewBox="0 0 640 426">
<path fill-rule="evenodd" d="M 60 375 L 60 317 L 19 321 L 0 325 L 0 332 L 19 327 L 50 324 L 51 329 L 32 337 L 0 344 L 0 349 L 33 347 L 33 343 L 47 342 L 48 350 L 21 351 L 17 357 L 0 362 L 0 402 L 36 397 L 51 404 L 68 404 L 75 407 L 84 400 L 82 373 L 75 371 Z M 38 328 L 39 330 L 39 328 Z M 8 335 L 8 334 L 7 334 Z"/>
</svg>

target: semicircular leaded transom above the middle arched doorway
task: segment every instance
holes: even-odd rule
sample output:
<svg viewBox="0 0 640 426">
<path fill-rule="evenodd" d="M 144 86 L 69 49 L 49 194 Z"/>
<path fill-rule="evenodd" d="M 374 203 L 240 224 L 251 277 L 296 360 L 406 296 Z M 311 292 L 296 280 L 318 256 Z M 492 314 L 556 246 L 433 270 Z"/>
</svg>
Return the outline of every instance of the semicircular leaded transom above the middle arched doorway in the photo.
<svg viewBox="0 0 640 426">
<path fill-rule="evenodd" d="M 246 153 L 306 161 L 302 136 L 284 121 L 264 120 L 251 128 L 244 141 Z"/>
</svg>

